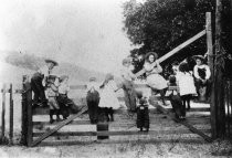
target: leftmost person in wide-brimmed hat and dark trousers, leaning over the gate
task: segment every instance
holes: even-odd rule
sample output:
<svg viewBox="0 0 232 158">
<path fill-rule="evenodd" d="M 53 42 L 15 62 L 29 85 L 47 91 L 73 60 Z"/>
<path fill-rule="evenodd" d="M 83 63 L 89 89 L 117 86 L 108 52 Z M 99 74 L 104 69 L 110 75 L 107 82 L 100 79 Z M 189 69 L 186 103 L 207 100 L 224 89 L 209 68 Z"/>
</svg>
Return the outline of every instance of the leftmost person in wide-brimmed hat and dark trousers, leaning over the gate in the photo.
<svg viewBox="0 0 232 158">
<path fill-rule="evenodd" d="M 44 86 L 49 74 L 57 65 L 57 62 L 53 60 L 45 60 L 45 65 L 33 74 L 31 78 L 31 88 L 34 92 L 33 105 L 46 106 Z"/>
</svg>

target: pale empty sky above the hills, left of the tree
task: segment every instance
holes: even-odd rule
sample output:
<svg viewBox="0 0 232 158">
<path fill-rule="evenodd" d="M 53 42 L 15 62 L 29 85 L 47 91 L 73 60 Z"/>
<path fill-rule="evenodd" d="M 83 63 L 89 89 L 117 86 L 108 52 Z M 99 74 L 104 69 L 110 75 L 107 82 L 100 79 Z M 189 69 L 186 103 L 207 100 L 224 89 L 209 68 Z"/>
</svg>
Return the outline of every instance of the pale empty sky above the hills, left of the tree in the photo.
<svg viewBox="0 0 232 158">
<path fill-rule="evenodd" d="M 122 31 L 127 0 L 0 0 L 0 50 L 118 73 L 131 44 Z"/>
</svg>

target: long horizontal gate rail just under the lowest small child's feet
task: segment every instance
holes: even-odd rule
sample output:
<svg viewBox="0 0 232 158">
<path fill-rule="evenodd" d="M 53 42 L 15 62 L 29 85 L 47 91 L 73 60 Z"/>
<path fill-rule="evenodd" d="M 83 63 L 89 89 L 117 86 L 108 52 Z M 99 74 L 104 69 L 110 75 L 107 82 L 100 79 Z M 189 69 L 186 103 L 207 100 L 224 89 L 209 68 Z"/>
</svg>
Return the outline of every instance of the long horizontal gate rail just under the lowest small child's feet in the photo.
<svg viewBox="0 0 232 158">
<path fill-rule="evenodd" d="M 211 133 L 211 129 L 202 129 L 203 133 Z M 138 130 L 122 130 L 122 131 L 63 131 L 54 133 L 51 136 L 124 136 L 124 135 L 180 135 L 180 134 L 192 134 L 188 129 L 181 130 L 149 130 L 138 131 Z M 43 133 L 33 133 L 33 137 L 40 137 Z"/>
</svg>

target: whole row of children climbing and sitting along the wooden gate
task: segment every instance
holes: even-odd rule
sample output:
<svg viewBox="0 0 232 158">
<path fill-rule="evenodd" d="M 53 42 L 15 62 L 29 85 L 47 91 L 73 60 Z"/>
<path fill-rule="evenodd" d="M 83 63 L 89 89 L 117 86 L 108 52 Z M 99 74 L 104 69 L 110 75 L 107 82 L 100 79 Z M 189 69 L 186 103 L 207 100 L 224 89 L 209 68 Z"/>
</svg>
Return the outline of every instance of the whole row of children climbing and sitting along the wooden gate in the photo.
<svg viewBox="0 0 232 158">
<path fill-rule="evenodd" d="M 155 60 L 151 60 L 152 56 Z M 161 71 L 161 66 L 158 62 L 156 62 L 156 54 L 150 54 L 148 57 L 148 62 L 145 63 L 146 74 L 148 77 L 150 76 L 148 85 L 151 87 L 151 89 L 159 91 L 164 97 L 168 85 L 166 86 L 167 83 L 165 80 L 161 77 L 161 75 L 158 75 Z M 52 60 L 46 60 L 45 62 L 45 67 L 40 69 L 33 75 L 31 85 L 34 92 L 34 105 L 38 105 L 38 103 L 40 103 L 42 106 L 49 105 L 50 123 L 52 124 L 54 122 L 53 115 L 56 115 L 56 120 L 61 120 L 60 115 L 63 116 L 63 119 L 66 119 L 70 116 L 70 110 L 72 110 L 72 113 L 77 113 L 80 109 L 78 106 L 76 106 L 74 102 L 67 97 L 67 92 L 70 91 L 67 84 L 68 76 L 63 75 L 57 77 L 55 75 L 51 75 L 51 70 L 56 66 L 57 63 Z M 148 69 L 148 64 L 150 64 L 150 69 Z M 87 84 L 86 103 L 92 124 L 96 124 L 101 120 L 114 122 L 114 109 L 120 107 L 116 92 L 119 88 L 123 88 L 125 104 L 128 112 L 137 113 L 137 127 L 140 130 L 144 128 L 146 131 L 149 130 L 147 98 L 143 96 L 141 92 L 135 91 L 134 80 L 136 78 L 136 75 L 130 71 L 130 59 L 123 60 L 123 69 L 120 72 L 123 78 L 122 87 L 116 85 L 112 74 L 106 75 L 102 85 L 97 84 L 95 77 L 89 78 Z M 183 62 L 176 67 L 173 66 L 173 70 L 178 71 L 170 76 L 169 85 L 178 85 L 179 89 L 172 91 L 169 98 L 176 113 L 176 117 L 182 119 L 186 117 L 186 106 L 188 106 L 188 109 L 190 109 L 191 96 L 197 95 L 198 91 L 196 89 L 196 81 L 188 67 L 188 63 Z M 194 69 L 194 71 L 197 71 L 197 69 Z M 209 74 L 207 74 L 204 78 L 209 78 Z M 201 82 L 199 84 L 207 83 L 207 80 L 198 80 Z M 46 95 L 44 92 L 46 92 Z M 165 101 L 162 102 L 165 104 Z"/>
</svg>

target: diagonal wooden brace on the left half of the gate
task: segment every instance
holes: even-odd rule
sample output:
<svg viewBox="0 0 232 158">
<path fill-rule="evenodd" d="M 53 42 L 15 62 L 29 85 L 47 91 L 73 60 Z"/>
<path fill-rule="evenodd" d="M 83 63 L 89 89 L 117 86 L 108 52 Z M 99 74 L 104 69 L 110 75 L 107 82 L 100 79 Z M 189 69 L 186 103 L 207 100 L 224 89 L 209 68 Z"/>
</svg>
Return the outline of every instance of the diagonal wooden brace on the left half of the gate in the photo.
<svg viewBox="0 0 232 158">
<path fill-rule="evenodd" d="M 84 112 L 87 110 L 87 106 L 84 106 L 82 108 L 82 110 L 80 113 L 77 113 L 76 115 L 73 115 L 71 117 L 68 117 L 67 119 L 61 122 L 57 126 L 55 126 L 54 128 L 52 128 L 51 130 L 49 130 L 45 134 L 42 134 L 36 140 L 34 140 L 30 147 L 36 146 L 38 144 L 40 144 L 42 140 L 44 140 L 45 138 L 48 138 L 50 135 L 52 135 L 53 133 L 57 131 L 60 128 L 62 128 L 63 126 L 65 126 L 66 124 L 71 123 L 73 119 L 77 118 L 80 115 L 82 115 Z M 32 128 L 32 127 L 31 127 Z"/>
</svg>

